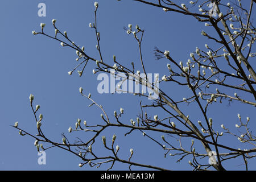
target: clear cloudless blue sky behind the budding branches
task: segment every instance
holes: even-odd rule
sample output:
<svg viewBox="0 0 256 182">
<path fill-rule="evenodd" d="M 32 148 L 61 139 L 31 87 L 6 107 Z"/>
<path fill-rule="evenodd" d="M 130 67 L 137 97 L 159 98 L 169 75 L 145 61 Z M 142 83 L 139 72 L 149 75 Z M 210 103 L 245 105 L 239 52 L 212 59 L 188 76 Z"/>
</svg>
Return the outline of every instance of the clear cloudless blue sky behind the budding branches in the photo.
<svg viewBox="0 0 256 182">
<path fill-rule="evenodd" d="M 38 4 L 46 3 L 46 17 L 38 16 Z M 185 1 L 184 1 L 185 2 Z M 189 1 L 186 1 L 189 2 Z M 145 6 L 134 1 L 103 1 L 99 0 L 98 9 L 98 30 L 101 33 L 101 49 L 104 60 L 110 65 L 113 64 L 113 55 L 130 67 L 134 61 L 136 69 L 141 68 L 137 42 L 132 35 L 127 35 L 123 27 L 127 24 L 139 24 L 145 30 L 142 51 L 145 66 L 148 73 L 159 73 L 160 77 L 168 73 L 166 68 L 167 60 L 156 60 L 154 46 L 160 50 L 170 50 L 174 59 L 185 63 L 189 59 L 189 53 L 195 51 L 196 47 L 204 48 L 208 43 L 213 48 L 216 43 L 201 36 L 201 30 L 212 32 L 212 28 L 205 27 L 190 16 L 182 16 L 176 13 L 165 13 L 162 9 Z M 85 93 L 92 93 L 99 104 L 103 105 L 109 115 L 113 117 L 114 110 L 120 107 L 125 109 L 122 117 L 124 123 L 130 123 L 130 118 L 137 118 L 139 114 L 139 101 L 149 103 L 141 97 L 134 97 L 129 94 L 98 94 L 97 75 L 93 75 L 92 69 L 95 63 L 86 67 L 85 73 L 79 77 L 76 72 L 72 76 L 68 72 L 76 66 L 75 51 L 61 47 L 59 42 L 40 35 L 32 35 L 31 31 L 40 31 L 40 23 L 46 23 L 44 29 L 48 34 L 54 35 L 54 28 L 51 20 L 57 19 L 56 26 L 67 31 L 69 38 L 89 52 L 91 57 L 99 59 L 96 51 L 96 38 L 94 31 L 89 28 L 93 22 L 94 1 L 14 1 L 3 0 L 0 2 L 0 16 L 2 28 L 0 29 L 0 59 L 1 59 L 1 104 L 0 104 L 0 169 L 5 170 L 91 170 L 88 166 L 79 168 L 80 160 L 60 149 L 51 149 L 46 152 L 47 164 L 39 165 L 38 152 L 34 146 L 34 139 L 21 137 L 18 131 L 10 127 L 14 122 L 19 121 L 19 126 L 32 134 L 36 134 L 36 124 L 30 108 L 28 96 L 30 93 L 35 96 L 35 104 L 40 104 L 40 113 L 44 115 L 43 131 L 49 138 L 61 142 L 61 133 L 75 139 L 76 136 L 85 137 L 84 133 L 68 133 L 68 127 L 75 127 L 77 118 L 86 120 L 88 124 L 101 121 L 100 112 L 96 107 L 87 107 L 90 102 L 81 97 L 79 87 L 84 88 Z M 255 13 L 254 13 L 255 14 Z M 253 17 L 253 16 L 252 16 Z M 254 21 L 255 22 L 255 21 Z M 255 63 L 252 63 L 255 68 Z M 182 100 L 187 94 L 187 88 L 177 88 L 175 84 L 160 85 L 160 88 L 168 91 L 176 100 Z M 215 89 L 215 88 L 213 88 Z M 238 95 L 240 92 L 237 92 Z M 243 93 L 241 93 L 243 94 Z M 242 107 L 241 107 L 242 106 Z M 148 113 L 150 110 L 148 110 Z M 166 117 L 167 114 L 160 110 L 154 110 L 159 117 Z M 184 113 L 191 115 L 195 121 L 203 119 L 195 105 L 184 105 Z M 255 108 L 250 105 L 241 105 L 234 102 L 232 106 L 228 102 L 222 105 L 210 106 L 209 113 L 212 115 L 216 130 L 222 131 L 220 124 L 230 126 L 237 131 L 234 125 L 238 122 L 237 113 L 245 119 L 247 116 L 253 120 L 256 117 Z M 255 125 L 251 130 L 255 130 Z M 107 140 L 113 134 L 117 134 L 117 144 L 121 147 L 122 158 L 127 159 L 130 148 L 134 148 L 133 161 L 138 163 L 151 164 L 168 169 L 192 169 L 188 165 L 191 156 L 181 163 L 175 163 L 177 158 L 167 156 L 164 158 L 164 151 L 156 146 L 151 140 L 143 137 L 135 131 L 133 135 L 123 137 L 127 130 L 117 128 L 110 129 L 104 133 Z M 152 134 L 159 138 L 162 134 Z M 166 136 L 171 142 L 176 140 Z M 101 138 L 98 138 L 101 143 Z M 184 145 L 191 140 L 184 140 Z M 220 143 L 229 144 L 236 148 L 246 148 L 236 138 L 225 135 Z M 105 152 L 102 145 L 98 145 L 100 152 Z M 203 152 L 201 146 L 199 151 Z M 222 152 L 225 152 L 223 150 Z M 104 153 L 103 153 L 104 154 Z M 208 159 L 205 159 L 207 162 Z M 255 168 L 255 159 L 249 160 L 250 169 Z M 245 169 L 241 158 L 225 162 L 227 169 Z M 104 170 L 109 166 L 102 166 L 98 169 Z M 117 163 L 113 169 L 128 169 L 126 164 Z M 132 167 L 132 169 L 142 169 Z"/>
</svg>

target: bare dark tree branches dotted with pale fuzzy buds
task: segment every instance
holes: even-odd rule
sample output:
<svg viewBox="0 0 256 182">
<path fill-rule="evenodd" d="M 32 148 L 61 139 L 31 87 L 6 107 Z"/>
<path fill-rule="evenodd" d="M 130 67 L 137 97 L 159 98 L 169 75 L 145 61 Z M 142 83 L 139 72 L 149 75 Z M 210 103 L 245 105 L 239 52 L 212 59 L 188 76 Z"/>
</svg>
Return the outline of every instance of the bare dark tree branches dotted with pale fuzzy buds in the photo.
<svg viewBox="0 0 256 182">
<path fill-rule="evenodd" d="M 151 140 L 152 145 L 148 147 L 159 147 L 158 155 L 163 155 L 166 163 L 170 163 L 168 158 L 171 157 L 175 158 L 176 162 L 188 163 L 192 170 L 223 171 L 228 170 L 225 167 L 226 160 L 240 159 L 238 164 L 242 164 L 244 169 L 249 170 L 248 163 L 256 156 L 256 138 L 253 133 L 255 124 L 251 123 L 255 122 L 251 121 L 255 118 L 249 117 L 252 113 L 247 113 L 246 116 L 236 113 L 237 123 L 233 128 L 226 127 L 226 123 L 230 122 L 229 115 L 222 116 L 225 122 L 220 125 L 212 113 L 218 115 L 218 111 L 214 110 L 217 107 L 213 105 L 225 104 L 232 107 L 233 104 L 239 104 L 241 108 L 245 105 L 253 108 L 256 106 L 254 71 L 256 30 L 253 24 L 256 1 L 251 0 L 250 3 L 248 1 L 249 7 L 243 6 L 243 1 L 185 2 L 186 4 L 170 0 L 133 0 L 134 6 L 139 4 L 144 5 L 145 8 L 154 7 L 152 11 L 162 11 L 166 13 L 167 18 L 170 18 L 168 16 L 170 14 L 179 14 L 184 18 L 191 17 L 195 22 L 212 30 L 211 32 L 201 31 L 200 39 L 207 39 L 209 44 L 191 50 L 187 61 L 180 61 L 171 49 L 162 49 L 161 45 L 156 45 L 154 61 L 163 61 L 167 65 L 163 68 L 163 73 L 166 75 L 160 77 L 158 74 L 154 74 L 153 77 L 148 74 L 147 67 L 150 62 L 144 59 L 144 55 L 152 53 L 152 50 L 146 52 L 143 49 L 143 40 L 150 38 L 144 34 L 146 30 L 138 25 L 140 22 L 135 26 L 126 23 L 128 26 L 123 28 L 127 36 L 135 41 L 134 46 L 138 48 L 135 54 L 139 55 L 139 61 L 127 64 L 115 55 L 113 60 L 106 59 L 105 55 L 109 53 L 105 52 L 104 47 L 101 46 L 104 38 L 98 30 L 98 19 L 104 16 L 101 15 L 100 3 L 94 3 L 92 7 L 94 22 L 88 27 L 95 32 L 98 59 L 92 56 L 86 47 L 77 45 L 76 40 L 69 37 L 66 31 L 60 30 L 56 19 L 52 19 L 55 33 L 48 32 L 46 24 L 41 23 L 40 31 L 32 31 L 32 34 L 55 40 L 62 47 L 76 52 L 77 65 L 68 72 L 69 75 L 78 72 L 78 76 L 82 77 L 88 71 L 86 69 L 88 65 L 93 64 L 94 74 L 104 73 L 109 77 L 119 78 L 121 81 L 114 86 L 114 92 L 134 94 L 134 97 L 138 97 L 137 104 L 140 109 L 134 113 L 137 118 L 131 118 L 127 123 L 122 118 L 126 114 L 125 109 L 121 107 L 118 111 L 113 110 L 113 113 L 108 113 L 105 108 L 113 106 L 113 103 L 102 106 L 93 93 L 87 93 L 86 89 L 81 87 L 78 91 L 82 97 L 86 98 L 86 103 L 89 103 L 88 110 L 91 109 L 90 107 L 97 107 L 101 119 L 95 119 L 90 123 L 82 121 L 84 119 L 77 119 L 75 127 L 69 127 L 67 131 L 72 135 L 85 131 L 85 138 L 77 137 L 72 141 L 69 139 L 69 134 L 63 133 L 60 142 L 60 139 L 53 141 L 44 134 L 43 114 L 39 114 L 40 105 L 37 105 L 36 97 L 31 94 L 29 99 L 36 123 L 36 134 L 20 128 L 18 122 L 13 127 L 19 130 L 20 135 L 34 138 L 38 151 L 60 148 L 77 156 L 81 160 L 79 167 L 104 166 L 109 170 L 115 163 L 124 163 L 129 169 L 139 166 L 157 170 L 175 170 L 175 166 L 171 164 L 170 168 L 163 168 L 161 164 L 151 165 L 150 159 L 145 164 L 134 161 L 133 156 L 136 155 L 134 148 L 130 148 L 129 156 L 122 153 L 125 143 L 118 145 L 117 139 L 135 135 L 138 131 L 141 137 Z M 101 8 L 104 9 L 104 7 Z M 179 24 L 175 25 L 177 28 L 179 26 Z M 182 35 L 177 36 L 182 37 Z M 189 40 L 181 38 L 181 41 L 186 43 Z M 170 42 L 170 44 L 175 46 L 174 43 Z M 135 70 L 137 68 L 141 71 Z M 140 85 L 144 89 L 141 92 L 123 90 L 123 84 L 127 81 Z M 185 90 L 182 99 L 171 91 L 174 86 L 177 90 Z M 197 108 L 198 113 L 187 114 L 192 107 Z M 156 114 L 158 110 L 166 115 Z M 125 133 L 112 134 L 112 138 L 105 137 L 102 133 L 109 128 L 125 131 Z M 155 137 L 156 135 L 158 137 Z M 225 140 L 225 138 L 229 139 Z M 102 144 L 106 152 L 96 149 Z M 234 147 L 241 144 L 245 147 Z M 162 154 L 163 151 L 164 154 Z M 205 162 L 204 159 L 209 160 Z"/>
</svg>

